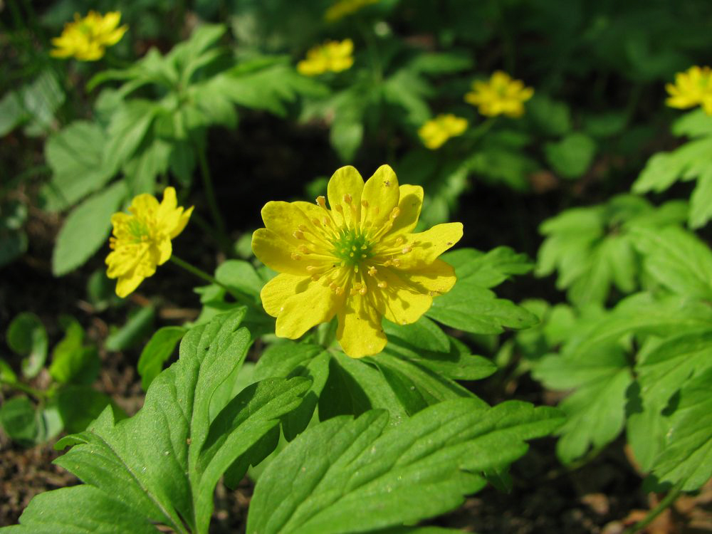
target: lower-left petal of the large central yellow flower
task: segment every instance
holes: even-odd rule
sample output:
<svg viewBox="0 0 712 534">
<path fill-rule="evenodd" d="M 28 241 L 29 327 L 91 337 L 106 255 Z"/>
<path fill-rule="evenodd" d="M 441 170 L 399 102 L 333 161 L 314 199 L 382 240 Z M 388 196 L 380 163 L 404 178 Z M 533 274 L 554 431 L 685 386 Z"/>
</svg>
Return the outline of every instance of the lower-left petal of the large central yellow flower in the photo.
<svg viewBox="0 0 712 534">
<path fill-rule="evenodd" d="M 336 314 L 343 297 L 337 296 L 325 281 L 310 281 L 305 290 L 284 301 L 277 316 L 276 335 L 296 339 Z"/>
</svg>

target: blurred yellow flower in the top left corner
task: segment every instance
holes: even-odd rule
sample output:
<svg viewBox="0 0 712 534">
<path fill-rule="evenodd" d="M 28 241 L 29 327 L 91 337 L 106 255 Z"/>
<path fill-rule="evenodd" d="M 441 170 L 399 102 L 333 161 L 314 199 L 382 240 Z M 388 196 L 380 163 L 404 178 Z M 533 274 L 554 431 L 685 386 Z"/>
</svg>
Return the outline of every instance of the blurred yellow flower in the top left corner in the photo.
<svg viewBox="0 0 712 534">
<path fill-rule="evenodd" d="M 96 61 L 104 56 L 107 46 L 113 46 L 124 36 L 128 26 L 119 26 L 121 14 L 111 11 L 102 16 L 96 11 L 64 25 L 62 35 L 52 39 L 57 48 L 50 52 L 55 58 L 75 57 L 81 61 Z"/>
</svg>

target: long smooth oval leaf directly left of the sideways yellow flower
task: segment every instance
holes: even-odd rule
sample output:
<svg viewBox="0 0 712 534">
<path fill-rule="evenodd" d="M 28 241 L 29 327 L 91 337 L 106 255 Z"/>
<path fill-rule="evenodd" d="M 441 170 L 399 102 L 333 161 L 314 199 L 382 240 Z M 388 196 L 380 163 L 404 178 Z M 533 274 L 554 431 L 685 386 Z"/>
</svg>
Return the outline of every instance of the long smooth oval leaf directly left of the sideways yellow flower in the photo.
<svg viewBox="0 0 712 534">
<path fill-rule="evenodd" d="M 111 216 L 120 208 L 126 194 L 125 184 L 117 182 L 89 197 L 69 214 L 52 253 L 54 276 L 72 271 L 98 251 L 111 230 Z"/>
</svg>

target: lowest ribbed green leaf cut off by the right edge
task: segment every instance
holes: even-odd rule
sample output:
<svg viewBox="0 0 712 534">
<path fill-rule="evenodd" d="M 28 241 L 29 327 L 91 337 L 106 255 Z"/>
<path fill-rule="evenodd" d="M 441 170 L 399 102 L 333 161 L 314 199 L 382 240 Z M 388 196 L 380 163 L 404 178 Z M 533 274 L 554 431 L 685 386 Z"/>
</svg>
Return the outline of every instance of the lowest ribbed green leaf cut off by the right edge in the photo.
<svg viewBox="0 0 712 534">
<path fill-rule="evenodd" d="M 662 483 L 682 483 L 683 491 L 701 488 L 712 476 L 712 369 L 688 382 L 670 417 L 664 449 L 653 474 Z"/>
</svg>

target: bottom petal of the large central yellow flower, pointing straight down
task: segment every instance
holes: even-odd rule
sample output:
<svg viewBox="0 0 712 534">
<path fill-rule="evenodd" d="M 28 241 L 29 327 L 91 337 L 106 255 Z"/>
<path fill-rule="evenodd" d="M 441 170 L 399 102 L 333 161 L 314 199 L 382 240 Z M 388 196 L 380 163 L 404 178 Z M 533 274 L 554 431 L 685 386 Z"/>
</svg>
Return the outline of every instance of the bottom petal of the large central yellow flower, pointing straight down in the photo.
<svg viewBox="0 0 712 534">
<path fill-rule="evenodd" d="M 350 357 L 377 354 L 386 346 L 381 314 L 371 305 L 368 296 L 357 293 L 349 297 L 340 308 L 338 318 L 336 339 Z"/>
</svg>

